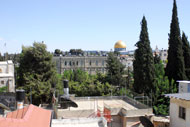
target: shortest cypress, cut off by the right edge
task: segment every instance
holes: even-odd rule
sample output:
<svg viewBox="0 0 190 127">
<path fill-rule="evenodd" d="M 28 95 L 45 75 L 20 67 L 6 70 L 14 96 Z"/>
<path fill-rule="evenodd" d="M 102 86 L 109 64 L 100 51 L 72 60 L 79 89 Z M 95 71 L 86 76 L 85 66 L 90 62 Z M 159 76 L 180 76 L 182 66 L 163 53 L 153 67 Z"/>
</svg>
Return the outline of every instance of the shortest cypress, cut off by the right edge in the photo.
<svg viewBox="0 0 190 127">
<path fill-rule="evenodd" d="M 187 78 L 190 80 L 190 46 L 187 36 L 183 32 L 182 34 L 182 42 L 183 42 L 183 56 L 184 56 L 184 63 L 185 63 L 185 72 Z"/>
</svg>

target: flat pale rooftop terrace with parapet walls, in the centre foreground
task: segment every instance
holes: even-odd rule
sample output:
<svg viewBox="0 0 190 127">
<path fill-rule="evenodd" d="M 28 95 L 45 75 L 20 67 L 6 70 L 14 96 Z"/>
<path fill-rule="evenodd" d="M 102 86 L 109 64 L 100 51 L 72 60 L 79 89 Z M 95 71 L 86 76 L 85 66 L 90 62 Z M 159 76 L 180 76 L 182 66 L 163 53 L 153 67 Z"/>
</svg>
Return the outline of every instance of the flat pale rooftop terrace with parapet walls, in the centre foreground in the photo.
<svg viewBox="0 0 190 127">
<path fill-rule="evenodd" d="M 151 115 L 152 108 L 135 101 L 129 97 L 75 97 L 72 99 L 78 108 L 58 109 L 58 118 L 90 117 L 98 110 L 107 108 L 111 115 L 126 117 Z"/>
</svg>

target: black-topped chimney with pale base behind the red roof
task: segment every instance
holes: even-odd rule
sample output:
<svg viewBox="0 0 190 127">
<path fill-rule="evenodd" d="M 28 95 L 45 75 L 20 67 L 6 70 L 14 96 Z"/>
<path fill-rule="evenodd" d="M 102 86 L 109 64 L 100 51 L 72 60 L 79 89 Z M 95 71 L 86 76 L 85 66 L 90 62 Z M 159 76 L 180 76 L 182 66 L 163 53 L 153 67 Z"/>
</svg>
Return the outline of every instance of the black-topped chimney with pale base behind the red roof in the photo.
<svg viewBox="0 0 190 127">
<path fill-rule="evenodd" d="M 25 91 L 16 90 L 17 109 L 22 109 L 24 106 Z"/>
</svg>

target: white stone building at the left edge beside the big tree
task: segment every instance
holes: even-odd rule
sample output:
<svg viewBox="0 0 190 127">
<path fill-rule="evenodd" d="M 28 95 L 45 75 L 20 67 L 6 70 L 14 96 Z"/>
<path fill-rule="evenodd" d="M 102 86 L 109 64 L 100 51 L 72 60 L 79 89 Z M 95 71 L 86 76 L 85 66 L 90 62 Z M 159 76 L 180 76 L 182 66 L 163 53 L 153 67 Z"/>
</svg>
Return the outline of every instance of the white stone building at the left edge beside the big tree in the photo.
<svg viewBox="0 0 190 127">
<path fill-rule="evenodd" d="M 14 64 L 11 60 L 0 62 L 0 87 L 7 86 L 8 92 L 15 92 Z"/>
</svg>

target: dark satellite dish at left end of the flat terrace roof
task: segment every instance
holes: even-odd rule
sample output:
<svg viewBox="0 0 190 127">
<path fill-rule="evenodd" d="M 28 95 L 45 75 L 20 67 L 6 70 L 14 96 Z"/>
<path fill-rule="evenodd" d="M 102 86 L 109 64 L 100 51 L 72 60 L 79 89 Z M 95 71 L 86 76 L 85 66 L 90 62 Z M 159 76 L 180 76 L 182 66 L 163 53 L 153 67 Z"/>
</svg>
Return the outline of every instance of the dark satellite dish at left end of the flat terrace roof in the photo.
<svg viewBox="0 0 190 127">
<path fill-rule="evenodd" d="M 63 109 L 66 109 L 66 108 L 68 108 L 68 107 L 74 107 L 74 108 L 77 108 L 77 107 L 78 107 L 78 105 L 77 105 L 74 101 L 72 101 L 72 100 L 69 99 L 69 98 L 65 98 L 65 97 L 63 97 L 63 96 L 61 96 L 60 104 L 61 104 L 61 107 L 62 107 Z"/>
</svg>

